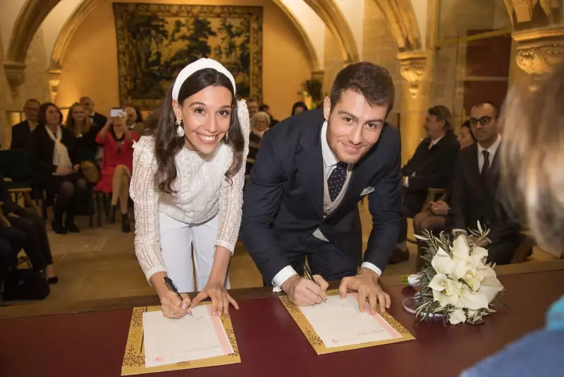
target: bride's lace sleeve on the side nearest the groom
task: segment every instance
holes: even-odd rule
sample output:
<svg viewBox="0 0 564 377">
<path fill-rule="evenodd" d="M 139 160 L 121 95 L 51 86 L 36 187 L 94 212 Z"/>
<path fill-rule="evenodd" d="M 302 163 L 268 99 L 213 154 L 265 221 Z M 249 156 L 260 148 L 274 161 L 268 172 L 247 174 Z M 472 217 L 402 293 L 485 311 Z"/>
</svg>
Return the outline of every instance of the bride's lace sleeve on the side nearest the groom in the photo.
<svg viewBox="0 0 564 377">
<path fill-rule="evenodd" d="M 219 230 L 216 246 L 223 246 L 233 253 L 239 236 L 243 208 L 243 184 L 245 184 L 245 162 L 249 153 L 250 121 L 247 104 L 244 100 L 238 103 L 238 116 L 245 140 L 243 162 L 241 168 L 233 176 L 231 182 L 223 179 L 219 193 Z M 233 156 L 233 154 L 232 154 Z M 232 161 L 231 161 L 232 162 Z M 231 166 L 230 162 L 230 166 Z"/>
</svg>

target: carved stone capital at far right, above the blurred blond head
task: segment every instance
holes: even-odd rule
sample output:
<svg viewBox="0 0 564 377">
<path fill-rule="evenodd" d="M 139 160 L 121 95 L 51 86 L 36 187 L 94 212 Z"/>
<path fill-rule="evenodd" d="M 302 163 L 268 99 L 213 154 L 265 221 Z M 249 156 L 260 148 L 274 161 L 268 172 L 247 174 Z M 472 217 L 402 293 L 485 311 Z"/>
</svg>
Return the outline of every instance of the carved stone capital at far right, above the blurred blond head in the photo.
<svg viewBox="0 0 564 377">
<path fill-rule="evenodd" d="M 564 56 L 564 28 L 544 28 L 514 32 L 517 66 L 533 76 L 551 71 Z"/>
</svg>

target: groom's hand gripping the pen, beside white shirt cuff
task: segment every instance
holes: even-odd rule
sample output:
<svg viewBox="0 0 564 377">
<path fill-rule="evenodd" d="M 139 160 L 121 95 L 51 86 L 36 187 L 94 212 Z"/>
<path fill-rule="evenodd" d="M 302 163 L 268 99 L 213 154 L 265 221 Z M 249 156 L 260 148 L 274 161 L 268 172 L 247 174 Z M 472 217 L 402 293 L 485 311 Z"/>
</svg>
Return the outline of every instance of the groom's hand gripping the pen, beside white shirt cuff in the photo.
<svg viewBox="0 0 564 377">
<path fill-rule="evenodd" d="M 319 304 L 326 297 L 325 291 L 329 287 L 321 275 L 313 275 L 315 282 L 293 275 L 286 282 L 283 282 L 282 290 L 288 294 L 288 299 L 298 306 L 311 306 Z M 316 284 L 317 283 L 317 284 Z"/>
</svg>

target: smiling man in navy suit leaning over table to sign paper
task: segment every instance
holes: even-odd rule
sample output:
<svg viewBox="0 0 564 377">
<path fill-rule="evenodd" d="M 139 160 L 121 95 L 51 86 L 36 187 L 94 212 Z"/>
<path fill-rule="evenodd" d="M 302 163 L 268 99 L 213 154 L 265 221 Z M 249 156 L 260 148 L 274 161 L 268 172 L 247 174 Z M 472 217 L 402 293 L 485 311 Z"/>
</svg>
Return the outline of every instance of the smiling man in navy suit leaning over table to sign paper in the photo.
<svg viewBox="0 0 564 377">
<path fill-rule="evenodd" d="M 357 291 L 361 311 L 367 299 L 373 313 L 376 302 L 381 311 L 390 306 L 378 281 L 400 227 L 400 135 L 385 123 L 394 92 L 385 68 L 353 64 L 338 73 L 322 110 L 264 134 L 240 237 L 264 282 L 295 304 L 321 302 L 326 280 L 342 279 L 341 297 Z M 363 256 L 357 204 L 368 194 L 372 232 Z M 306 257 L 317 284 L 300 277 Z"/>
</svg>

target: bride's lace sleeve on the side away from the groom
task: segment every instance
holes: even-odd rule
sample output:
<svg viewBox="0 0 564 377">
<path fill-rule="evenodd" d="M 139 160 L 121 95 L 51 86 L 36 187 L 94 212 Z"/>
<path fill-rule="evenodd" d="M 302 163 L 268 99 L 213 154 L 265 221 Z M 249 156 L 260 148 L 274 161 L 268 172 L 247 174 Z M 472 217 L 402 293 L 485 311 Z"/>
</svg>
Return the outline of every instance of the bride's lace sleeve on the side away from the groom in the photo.
<svg viewBox="0 0 564 377">
<path fill-rule="evenodd" d="M 161 253 L 159 229 L 159 193 L 154 188 L 157 161 L 154 141 L 149 136 L 133 144 L 133 174 L 129 194 L 135 210 L 135 254 L 147 280 L 166 271 Z"/>
</svg>

